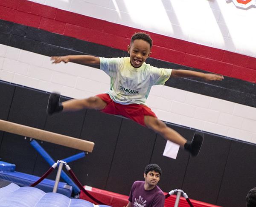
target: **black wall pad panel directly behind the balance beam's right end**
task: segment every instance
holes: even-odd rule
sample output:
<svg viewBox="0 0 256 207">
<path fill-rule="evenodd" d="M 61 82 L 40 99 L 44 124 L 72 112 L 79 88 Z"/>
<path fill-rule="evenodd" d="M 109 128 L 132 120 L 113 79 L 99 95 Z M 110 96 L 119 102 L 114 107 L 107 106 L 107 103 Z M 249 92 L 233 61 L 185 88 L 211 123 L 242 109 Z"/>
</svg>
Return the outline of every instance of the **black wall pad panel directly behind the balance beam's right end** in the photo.
<svg viewBox="0 0 256 207">
<path fill-rule="evenodd" d="M 95 143 L 93 153 L 74 164 L 74 172 L 86 185 L 105 189 L 122 118 L 87 110 L 81 139 Z"/>
</svg>

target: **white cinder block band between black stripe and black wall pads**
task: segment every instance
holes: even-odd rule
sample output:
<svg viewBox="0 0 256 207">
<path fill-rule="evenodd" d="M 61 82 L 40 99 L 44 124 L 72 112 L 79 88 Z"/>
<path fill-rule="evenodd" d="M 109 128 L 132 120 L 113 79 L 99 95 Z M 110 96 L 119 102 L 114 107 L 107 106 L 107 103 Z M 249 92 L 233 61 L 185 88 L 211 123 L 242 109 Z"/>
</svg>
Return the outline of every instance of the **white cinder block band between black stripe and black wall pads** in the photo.
<svg viewBox="0 0 256 207">
<path fill-rule="evenodd" d="M 107 91 L 110 82 L 99 69 L 52 64 L 47 56 L 6 45 L 0 45 L 0 79 L 77 99 Z M 256 108 L 163 85 L 152 88 L 147 104 L 163 121 L 256 143 Z"/>
</svg>

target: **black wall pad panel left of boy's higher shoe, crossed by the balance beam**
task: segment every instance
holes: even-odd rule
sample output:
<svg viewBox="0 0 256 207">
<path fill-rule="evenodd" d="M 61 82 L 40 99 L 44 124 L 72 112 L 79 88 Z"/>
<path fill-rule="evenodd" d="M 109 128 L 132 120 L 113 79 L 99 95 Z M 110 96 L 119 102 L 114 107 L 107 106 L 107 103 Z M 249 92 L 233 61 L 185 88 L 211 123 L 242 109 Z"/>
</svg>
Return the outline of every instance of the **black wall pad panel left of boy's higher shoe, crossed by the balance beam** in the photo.
<svg viewBox="0 0 256 207">
<path fill-rule="evenodd" d="M 8 121 L 43 129 L 46 121 L 47 94 L 16 86 Z M 1 157 L 16 164 L 16 170 L 33 173 L 37 153 L 29 144 L 29 138 L 4 133 Z"/>
</svg>

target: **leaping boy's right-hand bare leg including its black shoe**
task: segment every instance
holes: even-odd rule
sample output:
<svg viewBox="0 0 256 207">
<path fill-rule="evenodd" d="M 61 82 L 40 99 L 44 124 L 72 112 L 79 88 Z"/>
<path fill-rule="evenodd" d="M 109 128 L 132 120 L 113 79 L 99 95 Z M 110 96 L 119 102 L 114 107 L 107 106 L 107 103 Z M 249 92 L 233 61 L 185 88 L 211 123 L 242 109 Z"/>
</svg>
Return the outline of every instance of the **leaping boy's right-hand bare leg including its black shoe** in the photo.
<svg viewBox="0 0 256 207">
<path fill-rule="evenodd" d="M 159 133 L 165 139 L 168 139 L 169 141 L 185 148 L 192 154 L 192 156 L 198 155 L 203 142 L 203 137 L 201 135 L 195 134 L 192 142 L 190 142 L 177 133 L 177 131 L 169 128 L 165 123 L 154 116 L 144 116 L 144 121 L 148 128 L 152 129 L 156 133 Z"/>
</svg>

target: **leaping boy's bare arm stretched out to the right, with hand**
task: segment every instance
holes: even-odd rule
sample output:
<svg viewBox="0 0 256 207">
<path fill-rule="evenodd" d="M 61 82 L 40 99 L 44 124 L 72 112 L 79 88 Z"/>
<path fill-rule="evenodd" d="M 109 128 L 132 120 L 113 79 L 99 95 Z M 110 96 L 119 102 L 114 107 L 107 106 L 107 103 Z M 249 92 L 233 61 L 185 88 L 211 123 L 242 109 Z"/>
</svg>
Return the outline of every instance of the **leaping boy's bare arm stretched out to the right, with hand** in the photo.
<svg viewBox="0 0 256 207">
<path fill-rule="evenodd" d="M 224 77 L 218 74 L 201 73 L 189 70 L 172 70 L 171 77 L 202 78 L 204 80 L 223 80 Z"/>
</svg>

